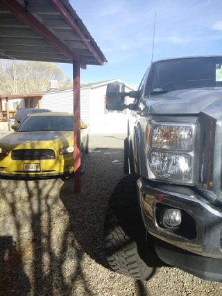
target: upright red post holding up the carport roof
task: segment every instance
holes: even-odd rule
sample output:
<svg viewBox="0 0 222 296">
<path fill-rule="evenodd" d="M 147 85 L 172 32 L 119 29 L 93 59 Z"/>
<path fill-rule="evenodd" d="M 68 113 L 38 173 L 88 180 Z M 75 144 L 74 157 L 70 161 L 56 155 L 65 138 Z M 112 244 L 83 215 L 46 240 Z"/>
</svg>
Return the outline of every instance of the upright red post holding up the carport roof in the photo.
<svg viewBox="0 0 222 296">
<path fill-rule="evenodd" d="M 80 186 L 80 64 L 73 62 L 74 85 L 74 192 L 81 190 Z"/>
</svg>

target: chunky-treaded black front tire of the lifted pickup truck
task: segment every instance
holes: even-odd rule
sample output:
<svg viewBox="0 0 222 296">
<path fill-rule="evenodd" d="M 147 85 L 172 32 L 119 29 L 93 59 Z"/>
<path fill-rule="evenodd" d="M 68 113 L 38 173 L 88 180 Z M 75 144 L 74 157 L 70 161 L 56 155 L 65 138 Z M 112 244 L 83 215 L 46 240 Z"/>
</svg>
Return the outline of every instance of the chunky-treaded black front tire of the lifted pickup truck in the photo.
<svg viewBox="0 0 222 296">
<path fill-rule="evenodd" d="M 105 217 L 105 256 L 115 272 L 139 280 L 150 279 L 160 266 L 146 242 L 146 229 L 137 202 L 137 175 L 123 177 L 114 189 Z"/>
</svg>

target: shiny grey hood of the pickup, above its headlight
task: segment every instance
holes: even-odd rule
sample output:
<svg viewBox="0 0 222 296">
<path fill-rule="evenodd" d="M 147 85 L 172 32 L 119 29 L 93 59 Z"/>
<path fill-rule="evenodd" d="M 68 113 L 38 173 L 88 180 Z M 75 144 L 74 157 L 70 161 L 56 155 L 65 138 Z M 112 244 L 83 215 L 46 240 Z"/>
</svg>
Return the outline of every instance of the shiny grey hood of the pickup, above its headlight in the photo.
<svg viewBox="0 0 222 296">
<path fill-rule="evenodd" d="M 222 89 L 180 89 L 144 98 L 144 113 L 199 114 L 205 107 L 222 100 Z"/>
</svg>

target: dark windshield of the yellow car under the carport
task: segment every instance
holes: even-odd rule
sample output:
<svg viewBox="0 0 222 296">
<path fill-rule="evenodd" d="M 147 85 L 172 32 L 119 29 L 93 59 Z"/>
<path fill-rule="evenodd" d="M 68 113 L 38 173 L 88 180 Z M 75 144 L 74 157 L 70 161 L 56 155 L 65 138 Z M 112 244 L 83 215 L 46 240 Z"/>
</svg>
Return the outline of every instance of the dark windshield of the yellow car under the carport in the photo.
<svg viewBox="0 0 222 296">
<path fill-rule="evenodd" d="M 73 131 L 72 116 L 29 116 L 17 129 L 17 132 L 54 132 Z"/>
</svg>

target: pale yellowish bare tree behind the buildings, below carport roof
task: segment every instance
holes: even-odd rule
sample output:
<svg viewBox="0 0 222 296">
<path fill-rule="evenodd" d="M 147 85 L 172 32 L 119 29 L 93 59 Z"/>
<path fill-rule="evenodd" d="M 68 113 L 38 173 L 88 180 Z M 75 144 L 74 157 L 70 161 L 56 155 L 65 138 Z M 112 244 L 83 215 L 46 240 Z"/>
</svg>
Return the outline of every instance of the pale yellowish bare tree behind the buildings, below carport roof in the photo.
<svg viewBox="0 0 222 296">
<path fill-rule="evenodd" d="M 49 80 L 58 87 L 71 86 L 71 78 L 50 62 L 0 60 L 1 94 L 37 94 L 47 90 Z"/>
</svg>

